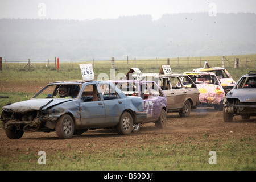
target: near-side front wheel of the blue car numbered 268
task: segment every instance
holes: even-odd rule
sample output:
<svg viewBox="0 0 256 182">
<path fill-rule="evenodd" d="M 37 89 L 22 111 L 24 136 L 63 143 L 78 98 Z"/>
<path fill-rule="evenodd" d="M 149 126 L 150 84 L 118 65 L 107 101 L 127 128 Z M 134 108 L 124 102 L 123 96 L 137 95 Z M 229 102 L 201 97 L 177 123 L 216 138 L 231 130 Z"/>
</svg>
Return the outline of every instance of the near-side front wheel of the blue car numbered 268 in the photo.
<svg viewBox="0 0 256 182">
<path fill-rule="evenodd" d="M 55 130 L 60 139 L 71 138 L 74 133 L 74 129 L 75 125 L 70 115 L 64 114 L 57 120 Z"/>
</svg>

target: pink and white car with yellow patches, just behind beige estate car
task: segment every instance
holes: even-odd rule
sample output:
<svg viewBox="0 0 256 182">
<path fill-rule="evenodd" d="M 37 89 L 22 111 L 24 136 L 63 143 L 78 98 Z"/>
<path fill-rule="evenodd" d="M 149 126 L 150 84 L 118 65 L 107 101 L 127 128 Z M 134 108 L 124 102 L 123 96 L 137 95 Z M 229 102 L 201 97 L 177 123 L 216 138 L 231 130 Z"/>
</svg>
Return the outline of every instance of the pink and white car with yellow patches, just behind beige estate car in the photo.
<svg viewBox="0 0 256 182">
<path fill-rule="evenodd" d="M 213 107 L 222 110 L 225 92 L 217 76 L 212 72 L 185 72 L 199 89 L 198 107 Z M 185 80 L 183 84 L 186 85 Z M 186 85 L 189 86 L 189 85 Z"/>
</svg>

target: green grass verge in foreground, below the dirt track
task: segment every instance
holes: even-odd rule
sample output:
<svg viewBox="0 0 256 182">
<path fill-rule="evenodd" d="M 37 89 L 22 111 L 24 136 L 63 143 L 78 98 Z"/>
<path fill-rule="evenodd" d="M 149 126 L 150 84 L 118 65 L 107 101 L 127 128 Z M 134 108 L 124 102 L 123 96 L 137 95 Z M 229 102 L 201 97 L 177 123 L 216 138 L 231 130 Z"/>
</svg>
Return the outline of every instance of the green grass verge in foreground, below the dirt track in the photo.
<svg viewBox="0 0 256 182">
<path fill-rule="evenodd" d="M 86 171 L 255 171 L 255 139 L 228 141 L 188 137 L 183 143 L 170 144 L 168 137 L 157 138 L 166 144 L 127 148 L 105 148 L 104 151 L 69 151 L 46 154 L 46 164 L 38 164 L 40 156 L 28 150 L 9 158 L 0 157 L 0 170 L 86 170 Z M 199 144 L 200 143 L 200 144 Z M 67 146 L 72 148 L 72 144 Z M 93 147 L 93 146 L 92 146 Z M 216 163 L 209 164 L 209 151 L 216 151 Z"/>
</svg>

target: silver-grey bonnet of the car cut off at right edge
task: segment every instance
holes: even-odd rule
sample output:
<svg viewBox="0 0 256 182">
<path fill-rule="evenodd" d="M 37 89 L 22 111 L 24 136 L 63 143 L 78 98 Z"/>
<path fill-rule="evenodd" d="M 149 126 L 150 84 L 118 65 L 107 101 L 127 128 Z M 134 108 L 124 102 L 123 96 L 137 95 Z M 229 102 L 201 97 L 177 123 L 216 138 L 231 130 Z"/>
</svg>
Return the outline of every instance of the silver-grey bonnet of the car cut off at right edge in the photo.
<svg viewBox="0 0 256 182">
<path fill-rule="evenodd" d="M 230 92 L 226 94 L 226 98 L 238 98 L 240 102 L 256 102 L 256 89 L 232 89 Z"/>
</svg>

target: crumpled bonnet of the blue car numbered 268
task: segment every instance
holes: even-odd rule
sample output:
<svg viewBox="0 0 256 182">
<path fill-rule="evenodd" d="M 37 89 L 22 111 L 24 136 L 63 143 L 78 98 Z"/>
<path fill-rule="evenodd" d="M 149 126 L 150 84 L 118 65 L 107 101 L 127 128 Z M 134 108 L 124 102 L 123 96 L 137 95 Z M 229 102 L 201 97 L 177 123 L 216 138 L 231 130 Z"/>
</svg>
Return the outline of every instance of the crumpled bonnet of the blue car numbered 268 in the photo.
<svg viewBox="0 0 256 182">
<path fill-rule="evenodd" d="M 28 112 L 33 110 L 39 110 L 40 107 L 46 105 L 48 102 L 50 102 L 48 105 L 43 107 L 42 109 L 47 109 L 48 107 L 51 107 L 53 105 L 61 104 L 63 102 L 71 101 L 72 99 L 31 99 L 27 101 L 21 101 L 21 102 L 15 102 L 10 105 L 3 106 L 3 109 L 11 109 L 14 112 Z"/>
</svg>

